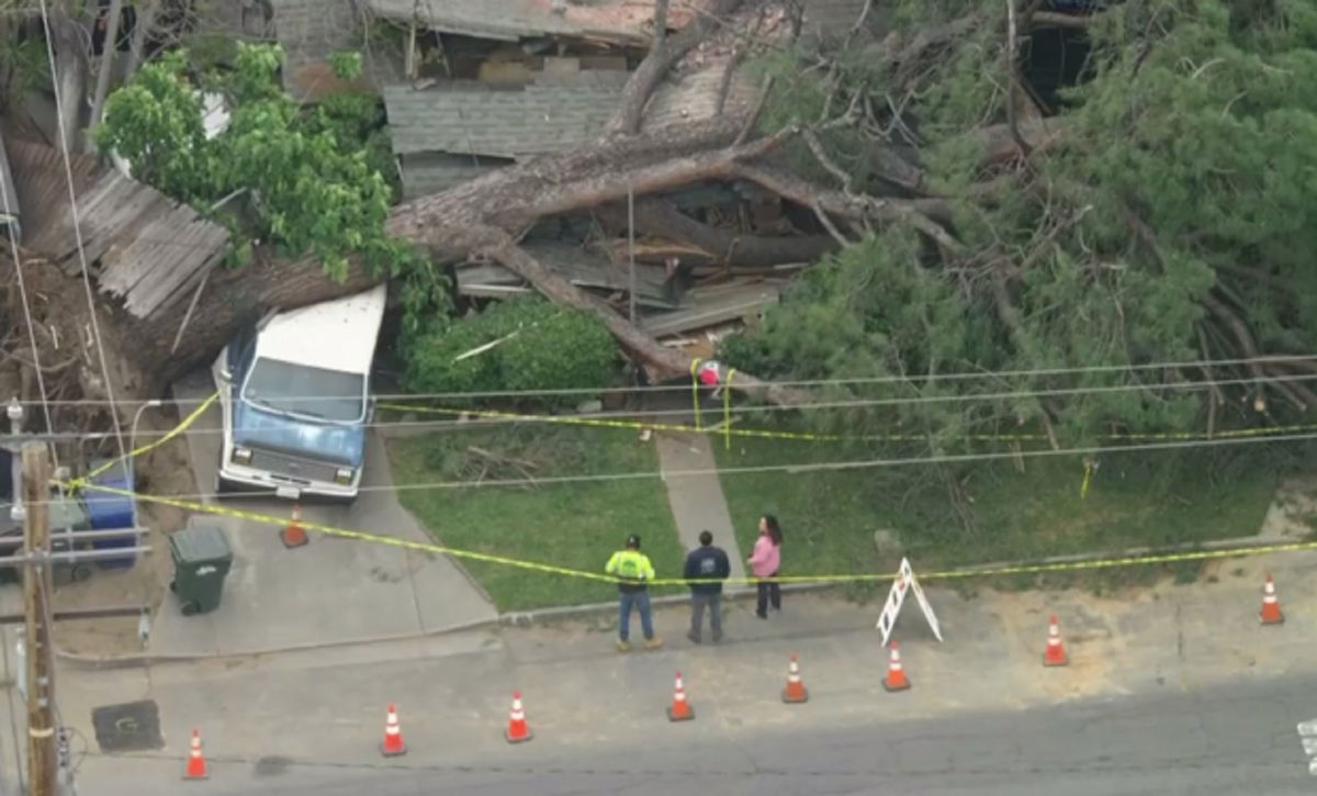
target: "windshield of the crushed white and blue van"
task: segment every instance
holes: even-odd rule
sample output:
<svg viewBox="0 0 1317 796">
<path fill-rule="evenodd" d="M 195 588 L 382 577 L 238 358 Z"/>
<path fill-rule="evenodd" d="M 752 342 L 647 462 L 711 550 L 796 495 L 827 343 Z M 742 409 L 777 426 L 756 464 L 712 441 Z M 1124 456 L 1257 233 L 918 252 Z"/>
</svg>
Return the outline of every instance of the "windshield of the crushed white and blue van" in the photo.
<svg viewBox="0 0 1317 796">
<path fill-rule="evenodd" d="M 352 423 L 366 414 L 366 378 L 259 357 L 242 387 L 242 399 L 274 411 Z"/>
</svg>

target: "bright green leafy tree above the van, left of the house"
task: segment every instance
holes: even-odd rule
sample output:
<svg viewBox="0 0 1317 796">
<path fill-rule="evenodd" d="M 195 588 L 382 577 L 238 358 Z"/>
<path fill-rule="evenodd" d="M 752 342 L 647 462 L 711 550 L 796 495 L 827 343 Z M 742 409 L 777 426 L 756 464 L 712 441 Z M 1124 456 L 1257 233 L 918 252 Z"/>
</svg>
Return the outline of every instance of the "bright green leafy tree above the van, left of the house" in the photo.
<svg viewBox="0 0 1317 796">
<path fill-rule="evenodd" d="M 383 224 L 395 187 L 377 98 L 332 95 L 299 107 L 279 84 L 278 46 L 238 43 L 232 69 L 188 69 L 182 51 L 144 66 L 105 105 L 97 144 L 132 163 L 134 175 L 202 211 L 236 191 L 254 210 L 257 237 L 290 254 L 309 252 L 335 277 L 348 257 L 395 273 L 419 265 Z M 361 59 L 335 59 L 341 76 Z M 203 98 L 221 95 L 228 127 L 207 138 Z"/>
</svg>

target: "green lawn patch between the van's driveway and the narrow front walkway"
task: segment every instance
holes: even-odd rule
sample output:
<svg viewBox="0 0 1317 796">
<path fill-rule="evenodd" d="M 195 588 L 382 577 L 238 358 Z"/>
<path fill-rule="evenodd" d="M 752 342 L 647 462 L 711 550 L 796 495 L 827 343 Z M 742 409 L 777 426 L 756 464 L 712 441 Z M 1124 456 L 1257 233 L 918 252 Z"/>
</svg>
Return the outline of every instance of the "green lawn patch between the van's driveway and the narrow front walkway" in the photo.
<svg viewBox="0 0 1317 796">
<path fill-rule="evenodd" d="M 641 443 L 635 432 L 626 430 L 473 426 L 391 440 L 387 447 L 398 484 L 658 469 L 653 443 Z M 406 489 L 399 498 L 437 540 L 453 548 L 602 573 L 608 556 L 622 548 L 627 534 L 635 532 L 640 534 L 641 551 L 653 560 L 658 577 L 681 575 L 685 552 L 657 477 Z M 616 596 L 616 588 L 606 583 L 482 561 L 461 563 L 489 590 L 500 611 L 603 602 Z"/>
</svg>

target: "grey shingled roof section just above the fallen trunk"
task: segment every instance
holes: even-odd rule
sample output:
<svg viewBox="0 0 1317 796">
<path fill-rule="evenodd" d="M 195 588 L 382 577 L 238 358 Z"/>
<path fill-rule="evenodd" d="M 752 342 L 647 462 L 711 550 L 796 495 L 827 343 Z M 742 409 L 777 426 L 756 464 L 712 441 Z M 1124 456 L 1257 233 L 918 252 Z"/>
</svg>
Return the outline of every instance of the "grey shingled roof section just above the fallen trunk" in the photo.
<svg viewBox="0 0 1317 796">
<path fill-rule="evenodd" d="M 414 90 L 386 86 L 394 154 L 450 152 L 523 159 L 597 138 L 612 116 L 626 72 L 614 83 L 531 84 L 495 90 L 454 82 Z"/>
</svg>

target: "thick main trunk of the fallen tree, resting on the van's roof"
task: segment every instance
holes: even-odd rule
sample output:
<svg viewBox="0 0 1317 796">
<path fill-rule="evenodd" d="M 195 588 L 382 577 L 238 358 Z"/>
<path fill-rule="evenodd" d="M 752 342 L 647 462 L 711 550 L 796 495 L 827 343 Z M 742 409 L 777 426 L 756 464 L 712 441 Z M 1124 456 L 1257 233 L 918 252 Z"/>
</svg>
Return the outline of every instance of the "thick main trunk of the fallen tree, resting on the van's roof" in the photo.
<svg viewBox="0 0 1317 796">
<path fill-rule="evenodd" d="M 730 121 L 714 120 L 510 166 L 399 206 L 389 220 L 389 232 L 428 249 L 440 264 L 477 253 L 494 256 L 506 246 L 507 236 L 536 219 L 615 202 L 627 195 L 628 185 L 643 195 L 702 179 L 724 179 L 732 175 L 736 163 L 778 142 L 763 138 L 731 146 L 736 133 Z M 366 273 L 358 262 L 350 265 L 345 281 L 333 282 L 311 258 L 296 262 L 259 258 L 245 269 L 212 275 L 190 316 L 190 302 L 179 302 L 149 322 L 116 312 L 113 326 L 119 339 L 132 340 L 121 353 L 142 372 L 141 386 L 155 391 L 215 356 L 242 323 L 257 320 L 271 308 L 341 298 L 382 278 Z M 543 289 L 540 282 L 536 285 Z M 566 291 L 581 294 L 564 285 Z M 599 310 L 581 297 L 573 299 L 577 306 Z M 184 318 L 186 331 L 178 349 L 171 352 Z M 610 327 L 620 329 L 611 322 Z M 622 341 L 637 349 L 633 337 Z M 680 355 L 653 345 L 645 351 L 656 355 L 649 364 L 660 376 L 686 372 L 689 360 L 680 364 L 673 358 Z M 658 351 L 664 356 L 657 356 Z M 745 386 L 751 386 L 748 378 Z"/>
</svg>

